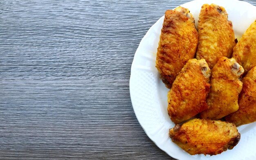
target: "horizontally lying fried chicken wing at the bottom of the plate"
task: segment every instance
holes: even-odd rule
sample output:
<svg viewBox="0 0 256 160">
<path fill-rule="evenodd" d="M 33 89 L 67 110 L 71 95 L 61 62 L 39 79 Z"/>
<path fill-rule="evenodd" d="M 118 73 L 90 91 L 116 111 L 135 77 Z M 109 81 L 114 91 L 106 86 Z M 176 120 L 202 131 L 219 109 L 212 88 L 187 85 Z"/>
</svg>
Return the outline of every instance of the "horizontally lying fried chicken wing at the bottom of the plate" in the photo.
<svg viewBox="0 0 256 160">
<path fill-rule="evenodd" d="M 235 124 L 220 120 L 193 119 L 169 131 L 174 143 L 191 155 L 216 155 L 233 149 L 240 140 Z"/>
</svg>

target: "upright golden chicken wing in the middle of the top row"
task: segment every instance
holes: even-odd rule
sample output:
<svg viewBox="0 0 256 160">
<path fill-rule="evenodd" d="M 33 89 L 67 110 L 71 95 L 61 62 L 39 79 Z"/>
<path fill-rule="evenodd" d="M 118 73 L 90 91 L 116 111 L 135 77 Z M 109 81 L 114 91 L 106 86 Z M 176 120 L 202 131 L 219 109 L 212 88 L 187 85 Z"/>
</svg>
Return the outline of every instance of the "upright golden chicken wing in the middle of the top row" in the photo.
<svg viewBox="0 0 256 160">
<path fill-rule="evenodd" d="M 232 22 L 225 8 L 204 4 L 198 20 L 198 50 L 196 58 L 205 59 L 210 69 L 222 56 L 231 58 L 236 45 Z"/>
</svg>

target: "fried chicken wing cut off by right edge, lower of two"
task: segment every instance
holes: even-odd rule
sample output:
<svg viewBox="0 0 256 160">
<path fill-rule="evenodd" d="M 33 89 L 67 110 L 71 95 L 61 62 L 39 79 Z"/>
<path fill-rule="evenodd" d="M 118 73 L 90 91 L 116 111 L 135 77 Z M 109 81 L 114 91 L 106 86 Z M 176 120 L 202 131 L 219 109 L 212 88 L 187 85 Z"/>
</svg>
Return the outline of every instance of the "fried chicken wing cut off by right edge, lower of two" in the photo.
<svg viewBox="0 0 256 160">
<path fill-rule="evenodd" d="M 256 67 L 253 67 L 242 79 L 243 89 L 238 98 L 238 111 L 225 117 L 236 126 L 256 121 Z"/>
</svg>

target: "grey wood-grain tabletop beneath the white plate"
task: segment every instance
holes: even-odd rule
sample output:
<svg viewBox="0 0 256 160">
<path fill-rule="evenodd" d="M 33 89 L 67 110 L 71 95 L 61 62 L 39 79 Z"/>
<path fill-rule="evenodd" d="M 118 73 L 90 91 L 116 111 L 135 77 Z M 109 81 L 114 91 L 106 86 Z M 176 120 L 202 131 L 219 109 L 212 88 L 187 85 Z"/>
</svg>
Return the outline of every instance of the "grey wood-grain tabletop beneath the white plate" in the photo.
<svg viewBox="0 0 256 160">
<path fill-rule="evenodd" d="M 188 1 L 1 0 L 0 159 L 172 159 L 137 121 L 130 67 Z"/>
</svg>

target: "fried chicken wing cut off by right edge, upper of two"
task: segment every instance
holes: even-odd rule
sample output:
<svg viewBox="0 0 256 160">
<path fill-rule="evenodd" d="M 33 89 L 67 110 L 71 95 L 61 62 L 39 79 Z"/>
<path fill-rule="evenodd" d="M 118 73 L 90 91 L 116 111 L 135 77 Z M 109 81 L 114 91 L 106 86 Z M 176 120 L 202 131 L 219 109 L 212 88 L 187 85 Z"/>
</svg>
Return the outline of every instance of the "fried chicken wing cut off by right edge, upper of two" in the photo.
<svg viewBox="0 0 256 160">
<path fill-rule="evenodd" d="M 245 31 L 241 40 L 234 47 L 233 57 L 243 66 L 245 74 L 256 66 L 256 20 Z"/>
</svg>

